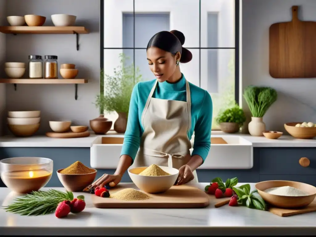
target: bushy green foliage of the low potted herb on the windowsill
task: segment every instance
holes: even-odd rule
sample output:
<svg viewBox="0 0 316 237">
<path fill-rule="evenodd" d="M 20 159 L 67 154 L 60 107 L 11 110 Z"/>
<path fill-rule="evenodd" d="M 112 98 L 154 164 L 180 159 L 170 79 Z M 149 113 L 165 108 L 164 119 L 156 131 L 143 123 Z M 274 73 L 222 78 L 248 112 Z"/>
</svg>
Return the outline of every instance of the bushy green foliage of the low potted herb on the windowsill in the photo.
<svg viewBox="0 0 316 237">
<path fill-rule="evenodd" d="M 246 116 L 242 108 L 239 107 L 237 103 L 235 103 L 234 107 L 228 108 L 222 112 L 220 112 L 216 117 L 216 123 L 237 123 L 239 127 L 246 121 Z"/>
</svg>

